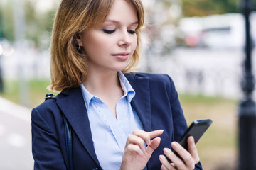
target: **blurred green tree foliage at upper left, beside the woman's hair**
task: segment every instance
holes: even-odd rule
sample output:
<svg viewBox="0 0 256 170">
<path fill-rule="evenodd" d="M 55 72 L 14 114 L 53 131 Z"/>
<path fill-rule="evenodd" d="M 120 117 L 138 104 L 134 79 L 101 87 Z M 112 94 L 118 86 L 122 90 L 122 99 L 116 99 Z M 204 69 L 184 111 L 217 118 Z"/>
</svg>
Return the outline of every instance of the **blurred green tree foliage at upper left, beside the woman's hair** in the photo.
<svg viewBox="0 0 256 170">
<path fill-rule="evenodd" d="M 24 0 L 26 39 L 35 42 L 37 47 L 48 48 L 46 43 L 50 42 L 50 32 L 53 25 L 56 6 L 53 6 L 53 8 L 48 11 L 38 12 L 36 11 L 35 1 Z M 6 3 L 3 3 L 0 6 L 1 37 L 4 37 L 11 42 L 15 40 L 13 11 L 12 1 L 6 1 Z"/>
</svg>

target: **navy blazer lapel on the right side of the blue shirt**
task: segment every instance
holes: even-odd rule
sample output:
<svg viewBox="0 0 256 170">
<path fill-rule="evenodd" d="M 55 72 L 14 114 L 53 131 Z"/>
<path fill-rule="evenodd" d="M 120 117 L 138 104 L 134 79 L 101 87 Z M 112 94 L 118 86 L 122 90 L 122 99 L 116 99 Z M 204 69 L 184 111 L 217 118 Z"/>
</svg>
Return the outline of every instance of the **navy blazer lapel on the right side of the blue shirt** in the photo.
<svg viewBox="0 0 256 170">
<path fill-rule="evenodd" d="M 124 74 L 135 91 L 131 105 L 137 112 L 146 132 L 151 131 L 151 107 L 149 95 L 149 79 L 137 77 L 136 74 Z"/>
</svg>

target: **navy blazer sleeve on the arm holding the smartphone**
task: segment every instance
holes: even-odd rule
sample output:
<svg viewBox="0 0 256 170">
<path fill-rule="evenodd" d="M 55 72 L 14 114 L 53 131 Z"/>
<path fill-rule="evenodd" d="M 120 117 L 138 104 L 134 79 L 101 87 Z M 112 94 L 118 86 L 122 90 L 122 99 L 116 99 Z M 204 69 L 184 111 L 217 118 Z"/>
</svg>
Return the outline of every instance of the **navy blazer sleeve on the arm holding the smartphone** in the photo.
<svg viewBox="0 0 256 170">
<path fill-rule="evenodd" d="M 169 77 L 167 75 L 167 77 Z M 188 125 L 186 123 L 186 119 L 183 115 L 183 111 L 181 108 L 181 103 L 178 99 L 178 93 L 176 91 L 176 88 L 174 86 L 174 81 L 172 81 L 171 77 L 169 77 L 169 80 L 171 82 L 171 110 L 173 113 L 173 120 L 174 120 L 174 141 L 178 141 L 181 138 L 181 135 L 183 135 L 183 132 L 188 128 Z M 199 162 L 195 166 L 195 170 L 201 170 L 202 165 Z"/>
</svg>

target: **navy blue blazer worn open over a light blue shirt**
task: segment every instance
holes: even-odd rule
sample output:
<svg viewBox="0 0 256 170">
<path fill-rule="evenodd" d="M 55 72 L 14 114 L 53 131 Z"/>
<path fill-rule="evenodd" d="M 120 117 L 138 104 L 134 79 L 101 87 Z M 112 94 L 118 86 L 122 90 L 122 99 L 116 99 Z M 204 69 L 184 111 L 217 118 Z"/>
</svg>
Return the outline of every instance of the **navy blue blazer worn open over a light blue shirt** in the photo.
<svg viewBox="0 0 256 170">
<path fill-rule="evenodd" d="M 186 120 L 171 78 L 166 74 L 125 74 L 136 95 L 132 107 L 146 132 L 164 130 L 161 143 L 153 152 L 147 169 L 160 169 L 159 154 L 170 147 L 187 128 Z M 102 169 L 92 142 L 90 123 L 80 87 L 65 89 L 53 99 L 33 108 L 32 152 L 34 169 L 68 169 L 63 116 L 72 127 L 75 170 Z M 104 152 L 104 151 L 102 151 Z M 196 164 L 201 169 L 201 164 Z"/>
</svg>

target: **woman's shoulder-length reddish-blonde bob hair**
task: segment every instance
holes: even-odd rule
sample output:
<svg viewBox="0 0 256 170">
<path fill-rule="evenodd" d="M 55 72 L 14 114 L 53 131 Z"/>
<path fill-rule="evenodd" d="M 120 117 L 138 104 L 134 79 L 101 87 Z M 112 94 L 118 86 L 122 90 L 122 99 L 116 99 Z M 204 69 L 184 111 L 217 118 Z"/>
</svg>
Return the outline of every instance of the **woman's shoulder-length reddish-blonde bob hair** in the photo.
<svg viewBox="0 0 256 170">
<path fill-rule="evenodd" d="M 87 79 L 88 67 L 85 52 L 78 50 L 75 36 L 102 24 L 114 1 L 119 0 L 62 0 L 53 24 L 50 45 L 51 84 L 48 89 L 62 91 L 80 86 Z M 139 62 L 141 30 L 144 25 L 144 8 L 140 0 L 126 0 L 137 10 L 139 26 L 137 47 L 123 73 L 132 72 Z"/>
</svg>

